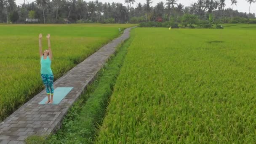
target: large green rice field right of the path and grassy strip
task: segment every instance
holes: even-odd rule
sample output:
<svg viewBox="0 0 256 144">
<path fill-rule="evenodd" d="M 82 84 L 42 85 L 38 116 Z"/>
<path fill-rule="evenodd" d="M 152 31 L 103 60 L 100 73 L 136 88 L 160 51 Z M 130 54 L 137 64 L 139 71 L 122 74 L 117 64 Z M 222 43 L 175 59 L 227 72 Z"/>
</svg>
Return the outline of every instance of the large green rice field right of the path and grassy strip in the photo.
<svg viewBox="0 0 256 144">
<path fill-rule="evenodd" d="M 255 143 L 256 25 L 134 33 L 96 143 Z"/>
</svg>

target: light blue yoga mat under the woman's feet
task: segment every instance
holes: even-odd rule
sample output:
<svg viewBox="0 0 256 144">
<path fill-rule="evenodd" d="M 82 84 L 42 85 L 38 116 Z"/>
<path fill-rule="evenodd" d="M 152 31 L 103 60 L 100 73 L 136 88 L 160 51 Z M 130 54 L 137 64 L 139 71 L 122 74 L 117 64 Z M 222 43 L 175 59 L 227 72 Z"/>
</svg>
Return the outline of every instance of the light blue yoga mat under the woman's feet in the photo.
<svg viewBox="0 0 256 144">
<path fill-rule="evenodd" d="M 62 99 L 64 99 L 65 96 L 71 91 L 73 87 L 58 87 L 54 89 L 54 95 L 53 95 L 53 103 L 52 104 L 59 104 Z M 45 104 L 45 102 L 48 101 L 47 96 L 39 103 L 39 104 Z M 50 103 L 48 103 L 50 104 Z"/>
</svg>

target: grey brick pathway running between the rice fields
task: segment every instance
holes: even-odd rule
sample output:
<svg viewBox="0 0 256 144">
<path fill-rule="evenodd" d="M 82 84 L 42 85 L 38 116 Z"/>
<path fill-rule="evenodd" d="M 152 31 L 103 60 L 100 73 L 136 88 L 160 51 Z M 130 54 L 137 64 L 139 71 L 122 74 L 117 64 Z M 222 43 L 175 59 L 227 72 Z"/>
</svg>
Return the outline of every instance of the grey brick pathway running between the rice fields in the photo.
<svg viewBox="0 0 256 144">
<path fill-rule="evenodd" d="M 54 82 L 55 88 L 74 87 L 58 105 L 38 104 L 46 96 L 43 90 L 0 123 L 0 144 L 24 144 L 28 136 L 48 135 L 56 131 L 68 109 L 115 52 L 115 47 L 128 39 L 130 30 L 131 28 L 125 29 L 121 37 L 104 45 Z"/>
</svg>

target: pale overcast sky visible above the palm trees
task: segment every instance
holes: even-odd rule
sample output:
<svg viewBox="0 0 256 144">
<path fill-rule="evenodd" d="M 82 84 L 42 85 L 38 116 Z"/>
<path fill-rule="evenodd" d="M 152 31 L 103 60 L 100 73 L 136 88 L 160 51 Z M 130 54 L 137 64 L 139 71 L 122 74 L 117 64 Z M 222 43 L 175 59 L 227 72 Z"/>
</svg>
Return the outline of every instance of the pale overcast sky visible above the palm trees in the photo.
<svg viewBox="0 0 256 144">
<path fill-rule="evenodd" d="M 32 2 L 35 0 L 26 0 L 27 2 Z M 85 1 L 91 1 L 91 0 L 85 0 Z M 94 0 L 93 0 L 94 1 Z M 124 3 L 125 0 L 99 0 L 102 3 Z M 164 3 L 166 2 L 166 0 L 152 0 L 153 3 L 152 5 L 156 5 L 157 3 L 159 3 L 160 1 L 163 1 Z M 189 6 L 191 3 L 195 3 L 197 0 L 178 0 L 178 3 L 182 3 L 185 6 Z M 234 5 L 234 10 L 238 10 L 239 12 L 249 12 L 249 3 L 247 3 L 246 0 L 237 0 L 237 6 Z M 24 0 L 16 0 L 17 4 L 21 4 L 24 3 Z M 137 3 L 146 3 L 146 0 L 136 0 L 136 3 L 134 3 L 134 7 L 136 7 Z M 231 0 L 226 0 L 226 7 L 225 8 L 232 8 L 231 6 Z M 251 13 L 256 13 L 256 3 L 252 3 L 251 4 Z"/>
</svg>

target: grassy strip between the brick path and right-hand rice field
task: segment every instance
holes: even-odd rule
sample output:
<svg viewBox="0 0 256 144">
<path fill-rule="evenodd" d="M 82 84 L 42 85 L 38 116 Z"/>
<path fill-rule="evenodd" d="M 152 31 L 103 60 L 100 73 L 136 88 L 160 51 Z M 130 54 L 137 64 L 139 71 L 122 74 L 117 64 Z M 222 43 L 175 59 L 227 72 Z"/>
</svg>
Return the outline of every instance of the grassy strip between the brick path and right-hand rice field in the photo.
<svg viewBox="0 0 256 144">
<path fill-rule="evenodd" d="M 133 35 L 133 33 L 132 33 Z M 64 118 L 61 129 L 47 140 L 29 137 L 27 144 L 88 144 L 93 143 L 97 129 L 106 112 L 109 96 L 112 95 L 116 78 L 123 65 L 127 48 L 133 38 L 117 48 L 115 56 L 105 64 L 96 80 L 88 86 L 87 93 L 75 102 Z M 86 101 L 86 103 L 85 103 Z"/>
</svg>

